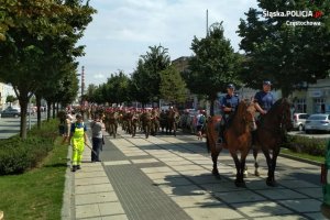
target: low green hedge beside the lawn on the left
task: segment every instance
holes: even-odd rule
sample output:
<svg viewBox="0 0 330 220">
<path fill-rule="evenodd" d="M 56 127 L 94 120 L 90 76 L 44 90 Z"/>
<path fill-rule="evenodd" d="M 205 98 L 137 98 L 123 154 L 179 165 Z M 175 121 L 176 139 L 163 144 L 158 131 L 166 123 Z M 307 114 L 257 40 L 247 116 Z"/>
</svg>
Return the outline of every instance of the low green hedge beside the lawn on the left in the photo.
<svg viewBox="0 0 330 220">
<path fill-rule="evenodd" d="M 34 168 L 53 150 L 58 122 L 43 122 L 33 128 L 25 140 L 13 136 L 0 140 L 0 175 L 21 174 Z"/>
</svg>

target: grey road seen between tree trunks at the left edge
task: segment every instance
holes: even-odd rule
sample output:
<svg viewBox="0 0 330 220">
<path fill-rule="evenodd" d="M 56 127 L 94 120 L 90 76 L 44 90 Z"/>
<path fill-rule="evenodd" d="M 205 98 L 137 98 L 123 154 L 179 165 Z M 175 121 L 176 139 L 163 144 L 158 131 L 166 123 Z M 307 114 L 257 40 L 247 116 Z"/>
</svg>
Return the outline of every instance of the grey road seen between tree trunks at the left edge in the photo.
<svg viewBox="0 0 330 220">
<path fill-rule="evenodd" d="M 45 119 L 46 114 L 42 113 L 42 119 Z M 28 128 L 29 128 L 29 117 Z M 21 118 L 0 118 L 0 139 L 8 139 L 12 135 L 20 133 Z M 36 114 L 31 116 L 31 125 L 36 123 Z"/>
</svg>

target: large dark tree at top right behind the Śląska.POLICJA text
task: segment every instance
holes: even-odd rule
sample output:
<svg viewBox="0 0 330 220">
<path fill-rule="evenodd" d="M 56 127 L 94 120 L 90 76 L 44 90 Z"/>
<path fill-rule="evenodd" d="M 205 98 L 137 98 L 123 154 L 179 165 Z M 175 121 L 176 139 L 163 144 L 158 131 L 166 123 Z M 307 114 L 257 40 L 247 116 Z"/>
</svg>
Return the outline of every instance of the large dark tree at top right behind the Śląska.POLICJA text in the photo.
<svg viewBox="0 0 330 220">
<path fill-rule="evenodd" d="M 330 32 L 327 15 L 314 18 L 262 18 L 263 11 L 323 11 L 329 10 L 327 1 L 266 1 L 258 0 L 257 9 L 250 9 L 246 20 L 241 19 L 240 47 L 245 51 L 243 80 L 252 88 L 271 79 L 275 88 L 287 97 L 296 85 L 316 82 L 329 75 Z M 320 26 L 294 26 L 294 21 L 321 22 Z"/>
</svg>

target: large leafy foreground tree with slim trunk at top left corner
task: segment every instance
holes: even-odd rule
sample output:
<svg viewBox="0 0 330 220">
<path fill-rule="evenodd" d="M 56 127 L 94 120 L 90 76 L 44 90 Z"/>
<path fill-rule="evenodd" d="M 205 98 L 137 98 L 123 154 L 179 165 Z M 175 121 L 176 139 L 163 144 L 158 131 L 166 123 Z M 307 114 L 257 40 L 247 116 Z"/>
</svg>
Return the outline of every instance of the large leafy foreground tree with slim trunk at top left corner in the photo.
<svg viewBox="0 0 330 220">
<path fill-rule="evenodd" d="M 80 0 L 3 3 L 9 11 L 4 13 L 10 15 L 6 22 L 0 20 L 0 32 L 6 36 L 0 42 L 0 78 L 11 82 L 19 98 L 20 135 L 25 139 L 29 99 L 46 81 L 56 78 L 63 66 L 81 55 L 84 47 L 75 44 L 96 11 L 88 1 L 82 6 Z"/>
</svg>

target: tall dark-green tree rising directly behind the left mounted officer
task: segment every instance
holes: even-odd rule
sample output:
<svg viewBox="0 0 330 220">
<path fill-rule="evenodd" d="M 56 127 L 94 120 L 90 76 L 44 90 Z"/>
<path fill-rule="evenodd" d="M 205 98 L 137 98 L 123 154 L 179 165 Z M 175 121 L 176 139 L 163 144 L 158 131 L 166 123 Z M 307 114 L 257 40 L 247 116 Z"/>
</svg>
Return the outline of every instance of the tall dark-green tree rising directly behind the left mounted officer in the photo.
<svg viewBox="0 0 330 220">
<path fill-rule="evenodd" d="M 237 55 L 230 41 L 223 36 L 222 22 L 210 26 L 209 36 L 201 40 L 195 36 L 191 50 L 195 55 L 189 61 L 184 78 L 191 92 L 207 96 L 212 116 L 217 94 L 226 90 L 229 82 L 239 81 L 235 72 Z"/>
</svg>

